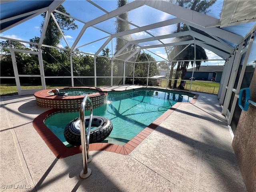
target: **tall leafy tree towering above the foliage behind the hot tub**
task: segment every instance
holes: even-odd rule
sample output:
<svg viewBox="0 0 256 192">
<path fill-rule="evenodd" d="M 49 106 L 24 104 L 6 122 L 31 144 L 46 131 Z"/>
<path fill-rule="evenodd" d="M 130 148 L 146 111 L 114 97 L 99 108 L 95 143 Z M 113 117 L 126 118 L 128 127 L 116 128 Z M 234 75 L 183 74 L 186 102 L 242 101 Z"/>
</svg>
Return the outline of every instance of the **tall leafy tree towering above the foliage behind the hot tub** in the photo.
<svg viewBox="0 0 256 192">
<path fill-rule="evenodd" d="M 65 8 L 61 5 L 57 8 L 60 12 L 68 14 Z M 53 12 L 54 18 L 56 18 L 58 25 L 60 26 L 62 33 L 65 34 L 67 30 L 75 30 L 78 26 L 75 24 L 74 19 L 70 19 L 62 14 Z M 41 15 L 43 18 L 46 17 L 46 13 Z M 44 23 L 41 23 L 40 31 L 42 33 Z M 44 35 L 43 44 L 58 46 L 62 39 L 62 34 L 54 22 L 52 16 L 50 16 L 46 33 Z M 34 37 L 30 39 L 30 42 L 39 43 L 40 38 Z M 37 49 L 38 46 L 30 44 L 30 48 Z M 66 47 L 67 48 L 67 47 Z M 76 56 L 76 55 L 75 55 Z M 58 50 L 55 48 L 42 47 L 42 57 L 44 64 L 44 73 L 46 76 L 70 76 L 70 58 L 69 53 L 64 50 Z M 73 58 L 74 59 L 74 58 Z M 51 80 L 51 83 L 59 83 L 59 80 Z M 70 80 L 65 79 L 62 83 L 69 84 Z"/>
</svg>

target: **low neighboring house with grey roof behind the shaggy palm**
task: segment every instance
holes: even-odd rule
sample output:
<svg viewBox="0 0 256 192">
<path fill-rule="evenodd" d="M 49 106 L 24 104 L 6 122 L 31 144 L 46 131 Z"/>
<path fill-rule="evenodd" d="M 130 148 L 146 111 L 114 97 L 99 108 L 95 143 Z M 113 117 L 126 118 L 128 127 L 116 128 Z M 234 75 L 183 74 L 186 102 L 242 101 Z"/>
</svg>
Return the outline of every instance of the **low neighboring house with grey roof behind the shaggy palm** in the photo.
<svg viewBox="0 0 256 192">
<path fill-rule="evenodd" d="M 222 72 L 223 72 L 224 66 L 200 66 L 199 70 L 196 70 L 194 68 L 194 74 L 193 77 L 195 80 L 212 80 L 212 77 L 215 78 L 215 82 L 220 82 Z M 185 79 L 189 79 L 192 77 L 193 68 L 188 69 L 185 74 Z"/>
</svg>

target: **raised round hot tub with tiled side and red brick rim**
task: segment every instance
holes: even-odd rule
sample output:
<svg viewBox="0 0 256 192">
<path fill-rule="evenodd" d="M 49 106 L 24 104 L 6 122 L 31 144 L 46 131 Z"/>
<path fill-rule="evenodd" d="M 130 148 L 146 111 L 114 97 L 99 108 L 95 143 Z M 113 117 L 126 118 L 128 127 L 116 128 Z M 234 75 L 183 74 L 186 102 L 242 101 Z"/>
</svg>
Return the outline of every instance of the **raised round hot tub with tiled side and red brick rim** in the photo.
<svg viewBox="0 0 256 192">
<path fill-rule="evenodd" d="M 78 109 L 85 95 L 92 100 L 93 108 L 106 104 L 107 90 L 96 87 L 67 87 L 58 89 L 60 92 L 68 93 L 68 96 L 54 95 L 52 89 L 40 90 L 34 94 L 36 104 L 40 107 L 58 109 Z M 86 102 L 86 110 L 90 109 Z"/>
</svg>

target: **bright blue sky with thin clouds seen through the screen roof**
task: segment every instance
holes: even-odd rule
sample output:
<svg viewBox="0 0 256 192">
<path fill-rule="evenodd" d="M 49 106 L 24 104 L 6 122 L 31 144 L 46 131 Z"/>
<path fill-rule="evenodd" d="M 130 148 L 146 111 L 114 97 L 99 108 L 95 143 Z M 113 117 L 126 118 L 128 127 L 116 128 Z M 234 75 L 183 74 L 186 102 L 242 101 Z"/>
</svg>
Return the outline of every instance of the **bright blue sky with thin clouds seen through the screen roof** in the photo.
<svg viewBox="0 0 256 192">
<path fill-rule="evenodd" d="M 114 1 L 114 0 L 105 0 L 105 1 L 97 0 L 93 2 L 98 6 L 101 6 L 108 12 L 116 9 L 117 7 L 117 1 Z M 129 2 L 131 2 L 131 0 Z M 223 4 L 223 0 L 216 1 L 216 3 L 210 8 L 207 14 L 215 18 L 220 18 L 222 4 Z M 105 14 L 104 11 L 98 9 L 96 6 L 82 0 L 66 0 L 62 5 L 70 15 L 77 18 L 78 20 L 83 20 L 84 22 L 88 22 L 98 16 Z M 128 12 L 128 15 L 129 15 L 129 21 L 136 26 L 145 26 L 155 22 L 160 22 L 163 20 L 175 18 L 170 14 L 166 14 L 164 12 L 151 8 L 149 6 L 142 6 L 140 8 L 137 8 L 136 10 L 131 10 L 130 12 Z M 96 24 L 95 26 L 99 29 L 105 30 L 110 34 L 113 34 L 116 30 L 114 25 L 115 21 L 116 21 L 116 18 L 112 18 L 100 24 Z M 29 41 L 35 36 L 38 36 L 38 37 L 40 36 L 40 26 L 42 22 L 43 22 L 43 18 L 42 16 L 39 15 L 39 16 L 36 16 L 35 18 L 28 20 L 27 22 L 19 24 L 18 26 L 15 26 L 14 28 L 11 28 L 1 33 L 0 36 Z M 74 43 L 74 40 L 78 36 L 80 30 L 84 26 L 82 22 L 79 22 L 77 20 L 75 21 L 75 23 L 78 25 L 78 29 L 65 31 L 65 38 L 70 47 Z M 136 26 L 130 25 L 130 28 L 133 29 L 133 28 L 136 28 Z M 165 35 L 165 34 L 169 34 L 170 31 L 174 32 L 175 30 L 176 30 L 176 25 L 170 25 L 170 26 L 157 28 L 154 30 L 148 30 L 148 32 L 152 35 Z M 108 36 L 110 36 L 110 34 L 108 33 L 102 32 L 92 27 L 87 28 L 76 47 L 88 44 L 89 42 L 96 41 L 100 38 L 104 38 L 98 42 L 94 42 L 92 44 L 88 44 L 86 46 L 79 48 L 80 51 L 94 54 L 95 52 L 98 51 L 100 46 L 107 40 Z M 151 36 L 145 32 L 139 32 L 132 35 L 133 40 L 137 40 L 138 38 L 148 38 L 148 37 L 151 37 Z M 165 39 L 164 41 L 166 43 L 173 42 L 174 38 Z M 155 45 L 155 44 L 160 44 L 160 42 L 151 41 L 151 42 L 140 43 L 140 45 L 142 46 Z M 28 46 L 28 44 L 25 44 L 25 45 Z M 59 44 L 59 47 L 65 47 L 65 46 L 66 46 L 66 43 L 64 40 L 62 40 L 61 43 Z M 112 40 L 106 47 L 110 48 L 110 50 L 114 52 L 115 39 Z M 151 54 L 157 61 L 163 60 L 162 58 L 167 58 L 166 51 L 164 48 L 154 48 L 154 49 L 150 49 L 149 51 L 145 51 L 145 52 Z M 110 52 L 110 54 L 112 54 L 112 52 Z M 155 54 L 152 54 L 152 52 L 158 54 L 162 58 L 156 56 Z M 208 59 L 222 59 L 209 50 L 206 50 L 206 54 L 208 56 Z M 224 61 L 211 61 L 211 62 L 202 63 L 202 65 L 216 65 L 216 64 L 223 65 Z"/>
</svg>

